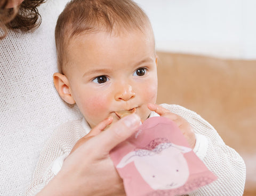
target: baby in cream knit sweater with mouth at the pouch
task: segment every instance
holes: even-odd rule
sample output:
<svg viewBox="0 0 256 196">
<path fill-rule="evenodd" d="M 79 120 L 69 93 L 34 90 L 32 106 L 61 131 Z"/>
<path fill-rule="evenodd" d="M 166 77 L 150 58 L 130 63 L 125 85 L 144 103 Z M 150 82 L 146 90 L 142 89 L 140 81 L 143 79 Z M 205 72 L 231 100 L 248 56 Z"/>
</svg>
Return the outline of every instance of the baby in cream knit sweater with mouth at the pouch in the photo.
<svg viewBox="0 0 256 196">
<path fill-rule="evenodd" d="M 190 195 L 242 195 L 245 165 L 203 118 L 178 105 L 156 105 L 157 55 L 147 15 L 131 0 L 76 0 L 55 29 L 60 97 L 76 104 L 82 120 L 62 125 L 46 144 L 30 192 L 56 175 L 70 152 L 126 113 L 142 122 L 164 116 L 176 123 L 196 155 L 218 180 Z M 90 132 L 90 133 L 89 133 Z M 73 151 L 71 151 L 73 149 Z"/>
</svg>

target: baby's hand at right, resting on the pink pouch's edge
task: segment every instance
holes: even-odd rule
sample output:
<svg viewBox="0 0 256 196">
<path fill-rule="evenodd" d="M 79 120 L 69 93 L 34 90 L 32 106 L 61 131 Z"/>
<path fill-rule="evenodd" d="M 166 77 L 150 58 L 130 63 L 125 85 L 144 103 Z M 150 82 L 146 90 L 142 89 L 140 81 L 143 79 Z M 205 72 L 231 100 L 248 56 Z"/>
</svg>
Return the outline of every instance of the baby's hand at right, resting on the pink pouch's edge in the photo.
<svg viewBox="0 0 256 196">
<path fill-rule="evenodd" d="M 179 116 L 177 114 L 171 113 L 168 109 L 165 109 L 156 104 L 148 104 L 148 108 L 151 111 L 156 112 L 160 116 L 164 116 L 164 117 L 172 120 L 179 127 L 179 129 L 181 130 L 181 132 L 187 139 L 189 146 L 192 149 L 195 147 L 196 135 L 195 135 L 192 127 L 188 123 L 188 121 L 186 121 L 184 118 L 182 118 L 181 116 Z"/>
</svg>

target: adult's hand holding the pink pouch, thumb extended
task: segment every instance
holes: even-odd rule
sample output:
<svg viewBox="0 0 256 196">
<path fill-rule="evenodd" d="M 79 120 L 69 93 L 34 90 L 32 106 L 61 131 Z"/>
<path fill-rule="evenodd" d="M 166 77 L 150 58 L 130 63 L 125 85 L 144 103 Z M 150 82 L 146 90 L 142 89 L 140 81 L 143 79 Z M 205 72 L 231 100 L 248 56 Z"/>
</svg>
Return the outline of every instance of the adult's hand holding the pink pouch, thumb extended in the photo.
<svg viewBox="0 0 256 196">
<path fill-rule="evenodd" d="M 65 159 L 57 176 L 37 195 L 125 195 L 109 152 L 139 125 L 140 117 L 132 114 L 91 137 Z"/>
</svg>

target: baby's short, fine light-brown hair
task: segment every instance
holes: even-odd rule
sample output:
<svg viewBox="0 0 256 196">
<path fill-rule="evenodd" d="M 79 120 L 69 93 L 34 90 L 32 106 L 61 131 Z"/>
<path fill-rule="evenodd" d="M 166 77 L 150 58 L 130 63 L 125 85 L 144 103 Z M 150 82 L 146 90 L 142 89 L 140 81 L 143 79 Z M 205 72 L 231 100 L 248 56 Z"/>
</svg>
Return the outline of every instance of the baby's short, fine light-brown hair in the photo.
<svg viewBox="0 0 256 196">
<path fill-rule="evenodd" d="M 151 29 L 148 16 L 132 0 L 73 0 L 60 14 L 55 28 L 59 72 L 68 64 L 69 41 L 85 33 Z"/>
</svg>

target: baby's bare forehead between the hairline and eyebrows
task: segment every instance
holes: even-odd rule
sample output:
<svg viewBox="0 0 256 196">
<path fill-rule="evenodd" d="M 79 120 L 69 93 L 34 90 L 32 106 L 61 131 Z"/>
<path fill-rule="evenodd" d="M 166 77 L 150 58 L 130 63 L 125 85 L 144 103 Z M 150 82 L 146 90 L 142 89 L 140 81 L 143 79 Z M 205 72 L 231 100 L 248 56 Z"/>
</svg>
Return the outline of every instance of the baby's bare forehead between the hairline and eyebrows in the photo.
<svg viewBox="0 0 256 196">
<path fill-rule="evenodd" d="M 113 59 L 115 63 L 134 65 L 145 61 L 148 55 L 150 59 L 155 57 L 154 35 L 150 30 L 146 33 L 140 30 L 80 33 L 70 39 L 67 46 L 66 59 L 71 67 L 84 62 L 94 67 L 111 65 Z"/>
</svg>

